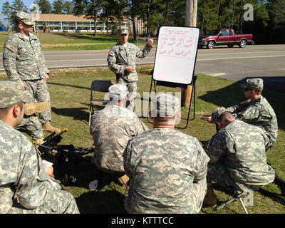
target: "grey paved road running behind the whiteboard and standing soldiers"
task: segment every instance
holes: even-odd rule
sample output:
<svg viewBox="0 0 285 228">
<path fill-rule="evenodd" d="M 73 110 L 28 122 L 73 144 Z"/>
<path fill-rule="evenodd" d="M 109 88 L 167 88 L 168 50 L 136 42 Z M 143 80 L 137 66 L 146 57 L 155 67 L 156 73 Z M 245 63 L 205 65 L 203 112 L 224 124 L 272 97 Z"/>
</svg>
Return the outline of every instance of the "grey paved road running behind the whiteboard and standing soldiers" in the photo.
<svg viewBox="0 0 285 228">
<path fill-rule="evenodd" d="M 48 51 L 44 55 L 48 68 L 107 66 L 108 50 Z M 153 63 L 154 59 L 155 49 L 152 49 L 146 58 L 137 58 L 137 63 Z M 279 77 L 285 76 L 284 63 L 285 45 L 257 45 L 246 48 L 218 46 L 212 50 L 198 50 L 195 72 L 229 81 L 255 76 Z M 3 70 L 0 59 L 0 71 Z"/>
</svg>

